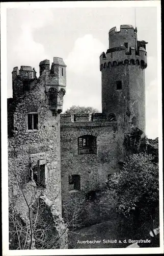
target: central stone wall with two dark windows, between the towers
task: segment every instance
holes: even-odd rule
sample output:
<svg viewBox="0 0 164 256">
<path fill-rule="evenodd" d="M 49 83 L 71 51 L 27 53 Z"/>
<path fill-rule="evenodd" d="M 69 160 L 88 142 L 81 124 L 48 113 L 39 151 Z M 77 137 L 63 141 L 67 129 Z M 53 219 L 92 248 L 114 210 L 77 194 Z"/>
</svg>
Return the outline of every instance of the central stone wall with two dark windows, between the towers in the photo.
<svg viewBox="0 0 164 256">
<path fill-rule="evenodd" d="M 101 116 L 97 121 L 87 121 L 86 115 L 70 122 L 69 115 L 61 115 L 63 205 L 71 205 L 75 197 L 77 200 L 83 199 L 90 191 L 104 187 L 108 175 L 117 172 L 120 169 L 119 162 L 124 160 L 124 135 L 117 129 L 117 122 L 101 120 Z M 78 154 L 78 137 L 83 135 L 96 136 L 97 154 Z M 80 176 L 80 190 L 69 190 L 70 175 Z"/>
</svg>

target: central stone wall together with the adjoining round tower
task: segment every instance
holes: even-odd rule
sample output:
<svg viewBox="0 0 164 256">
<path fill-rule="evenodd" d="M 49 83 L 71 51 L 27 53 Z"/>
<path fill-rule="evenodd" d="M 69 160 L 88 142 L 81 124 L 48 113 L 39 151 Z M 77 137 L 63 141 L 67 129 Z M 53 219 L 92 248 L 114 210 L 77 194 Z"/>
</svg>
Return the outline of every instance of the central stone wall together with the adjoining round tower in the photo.
<svg viewBox="0 0 164 256">
<path fill-rule="evenodd" d="M 100 55 L 102 113 L 61 115 L 63 204 L 71 205 L 73 198 L 85 198 L 103 188 L 125 160 L 125 136 L 135 127 L 145 132 L 146 44 L 138 41 L 131 25 L 122 25 L 120 31 L 112 28 L 109 48 Z M 96 153 L 92 142 L 89 145 L 92 138 Z"/>
</svg>

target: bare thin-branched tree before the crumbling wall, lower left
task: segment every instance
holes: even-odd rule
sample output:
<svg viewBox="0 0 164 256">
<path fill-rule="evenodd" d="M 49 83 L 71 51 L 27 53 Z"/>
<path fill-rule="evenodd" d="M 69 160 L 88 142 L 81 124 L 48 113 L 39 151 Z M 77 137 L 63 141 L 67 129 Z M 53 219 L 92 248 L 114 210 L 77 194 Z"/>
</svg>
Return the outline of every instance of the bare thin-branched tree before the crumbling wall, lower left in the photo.
<svg viewBox="0 0 164 256">
<path fill-rule="evenodd" d="M 67 244 L 68 226 L 58 207 L 33 180 L 14 183 L 9 193 L 10 249 L 61 249 Z M 57 195 L 58 197 L 58 195 Z M 55 199 L 54 199 L 55 200 Z"/>
</svg>

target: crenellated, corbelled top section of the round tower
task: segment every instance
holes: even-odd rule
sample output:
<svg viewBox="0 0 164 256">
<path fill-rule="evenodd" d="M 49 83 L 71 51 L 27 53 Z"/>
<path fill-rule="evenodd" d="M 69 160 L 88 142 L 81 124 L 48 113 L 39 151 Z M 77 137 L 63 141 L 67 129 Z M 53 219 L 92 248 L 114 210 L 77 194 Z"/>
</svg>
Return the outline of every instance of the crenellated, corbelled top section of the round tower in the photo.
<svg viewBox="0 0 164 256">
<path fill-rule="evenodd" d="M 139 65 L 147 67 L 146 41 L 138 41 L 137 30 L 131 25 L 121 25 L 109 32 L 109 48 L 100 55 L 100 70 L 110 66 Z"/>
</svg>

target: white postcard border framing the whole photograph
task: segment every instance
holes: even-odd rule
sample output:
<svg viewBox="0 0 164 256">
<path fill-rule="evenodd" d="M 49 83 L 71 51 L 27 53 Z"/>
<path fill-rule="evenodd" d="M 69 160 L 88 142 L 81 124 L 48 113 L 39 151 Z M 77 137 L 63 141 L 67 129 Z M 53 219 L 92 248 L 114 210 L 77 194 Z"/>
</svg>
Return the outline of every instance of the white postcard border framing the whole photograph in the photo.
<svg viewBox="0 0 164 256">
<path fill-rule="evenodd" d="M 8 150 L 7 150 L 7 8 L 75 8 L 75 7 L 157 7 L 158 55 L 158 134 L 159 134 L 159 191 L 160 191 L 160 247 L 110 249 L 8 249 Z M 146 14 L 145 14 L 146 18 Z M 2 36 L 3 35 L 3 36 Z M 2 114 L 2 230 L 3 255 L 85 255 L 85 254 L 154 254 L 163 253 L 163 184 L 162 184 L 162 101 L 161 101 L 161 6 L 160 1 L 92 1 L 92 2 L 8 2 L 1 3 L 1 114 Z"/>
</svg>

